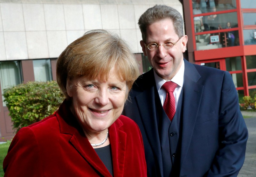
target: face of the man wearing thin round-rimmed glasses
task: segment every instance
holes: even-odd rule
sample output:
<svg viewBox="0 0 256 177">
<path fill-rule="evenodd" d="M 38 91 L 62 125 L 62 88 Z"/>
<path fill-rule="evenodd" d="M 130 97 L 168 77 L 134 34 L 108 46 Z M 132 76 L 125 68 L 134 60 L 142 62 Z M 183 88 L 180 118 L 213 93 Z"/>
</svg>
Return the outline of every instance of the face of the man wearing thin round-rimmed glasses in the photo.
<svg viewBox="0 0 256 177">
<path fill-rule="evenodd" d="M 146 30 L 146 41 L 140 41 L 143 53 L 148 57 L 154 71 L 164 80 L 175 76 L 183 61 L 183 52 L 186 50 L 187 36 L 179 37 L 176 34 L 171 19 L 164 19 L 150 24 Z M 165 49 L 166 42 L 177 42 L 172 48 Z M 149 50 L 145 44 L 156 43 L 156 50 Z"/>
</svg>

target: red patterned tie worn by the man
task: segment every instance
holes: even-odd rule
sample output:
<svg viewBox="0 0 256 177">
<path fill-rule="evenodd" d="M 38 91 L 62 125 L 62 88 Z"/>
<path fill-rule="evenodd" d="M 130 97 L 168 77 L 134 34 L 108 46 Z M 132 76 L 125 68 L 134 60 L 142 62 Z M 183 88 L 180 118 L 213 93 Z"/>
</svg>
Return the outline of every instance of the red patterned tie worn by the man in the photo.
<svg viewBox="0 0 256 177">
<path fill-rule="evenodd" d="M 175 90 L 176 87 L 177 87 L 177 84 L 172 81 L 165 82 L 162 85 L 162 88 L 165 89 L 166 91 L 166 98 L 163 104 L 163 109 L 171 121 L 176 111 L 175 98 L 173 95 L 173 91 Z"/>
</svg>

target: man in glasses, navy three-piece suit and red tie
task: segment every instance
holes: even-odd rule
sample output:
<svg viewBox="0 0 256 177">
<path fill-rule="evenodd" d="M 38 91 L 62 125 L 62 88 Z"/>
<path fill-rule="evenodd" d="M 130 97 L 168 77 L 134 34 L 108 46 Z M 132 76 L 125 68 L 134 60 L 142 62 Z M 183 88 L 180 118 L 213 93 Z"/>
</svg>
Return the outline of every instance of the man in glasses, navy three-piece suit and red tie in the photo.
<svg viewBox="0 0 256 177">
<path fill-rule="evenodd" d="M 177 10 L 155 5 L 138 24 L 153 69 L 136 80 L 124 114 L 140 127 L 148 176 L 237 176 L 248 131 L 231 75 L 183 58 L 188 39 Z M 170 81 L 173 118 L 164 104 L 173 95 L 162 88 Z"/>
</svg>

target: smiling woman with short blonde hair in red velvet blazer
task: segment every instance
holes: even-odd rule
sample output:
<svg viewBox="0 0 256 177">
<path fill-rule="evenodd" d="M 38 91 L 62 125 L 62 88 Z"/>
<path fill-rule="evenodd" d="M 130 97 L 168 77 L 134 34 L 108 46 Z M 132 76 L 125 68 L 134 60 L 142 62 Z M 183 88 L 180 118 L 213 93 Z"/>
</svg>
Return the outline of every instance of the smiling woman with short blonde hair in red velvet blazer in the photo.
<svg viewBox="0 0 256 177">
<path fill-rule="evenodd" d="M 127 44 L 89 31 L 62 52 L 56 72 L 66 99 L 15 135 L 5 176 L 146 176 L 139 128 L 121 115 L 139 75 Z"/>
</svg>

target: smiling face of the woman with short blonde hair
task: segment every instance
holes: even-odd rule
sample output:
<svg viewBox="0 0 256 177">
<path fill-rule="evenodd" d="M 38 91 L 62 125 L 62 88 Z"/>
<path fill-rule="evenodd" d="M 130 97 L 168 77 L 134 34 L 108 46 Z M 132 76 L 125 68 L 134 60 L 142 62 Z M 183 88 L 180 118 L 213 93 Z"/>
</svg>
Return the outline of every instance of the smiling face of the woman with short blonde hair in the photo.
<svg viewBox="0 0 256 177">
<path fill-rule="evenodd" d="M 71 109 L 86 132 L 99 132 L 111 126 L 122 113 L 127 93 L 126 81 L 116 72 L 110 73 L 107 81 L 78 77 L 67 84 Z"/>
</svg>

